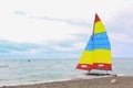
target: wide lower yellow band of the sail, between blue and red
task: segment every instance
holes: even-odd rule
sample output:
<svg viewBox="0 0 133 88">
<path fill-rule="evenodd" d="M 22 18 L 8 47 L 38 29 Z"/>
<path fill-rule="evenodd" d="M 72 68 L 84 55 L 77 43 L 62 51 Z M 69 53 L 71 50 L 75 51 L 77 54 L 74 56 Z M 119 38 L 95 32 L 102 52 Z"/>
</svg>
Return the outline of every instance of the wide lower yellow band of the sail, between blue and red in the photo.
<svg viewBox="0 0 133 88">
<path fill-rule="evenodd" d="M 92 65 L 93 63 L 111 64 L 112 63 L 111 51 L 108 50 L 84 51 L 79 61 L 79 64 Z"/>
</svg>

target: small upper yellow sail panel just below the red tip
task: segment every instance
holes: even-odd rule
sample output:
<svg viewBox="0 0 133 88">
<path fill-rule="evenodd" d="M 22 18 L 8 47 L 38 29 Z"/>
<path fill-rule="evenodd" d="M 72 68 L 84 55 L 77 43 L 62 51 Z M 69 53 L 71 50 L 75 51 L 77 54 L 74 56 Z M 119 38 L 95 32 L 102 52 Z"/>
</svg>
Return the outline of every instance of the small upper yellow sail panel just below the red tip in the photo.
<svg viewBox="0 0 133 88">
<path fill-rule="evenodd" d="M 105 28 L 101 21 L 95 22 L 94 24 L 94 33 L 103 33 L 105 32 Z"/>
</svg>

